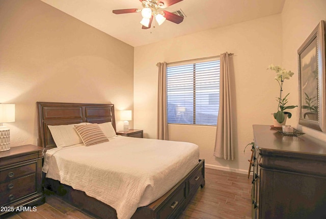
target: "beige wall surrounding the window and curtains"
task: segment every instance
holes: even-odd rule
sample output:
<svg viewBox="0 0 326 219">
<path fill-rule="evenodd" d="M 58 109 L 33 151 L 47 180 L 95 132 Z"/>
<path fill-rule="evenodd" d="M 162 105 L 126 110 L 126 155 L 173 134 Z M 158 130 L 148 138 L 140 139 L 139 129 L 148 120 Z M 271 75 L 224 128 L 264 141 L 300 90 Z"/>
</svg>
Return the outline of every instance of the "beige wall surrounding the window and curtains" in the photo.
<svg viewBox="0 0 326 219">
<path fill-rule="evenodd" d="M 175 62 L 232 52 L 235 69 L 235 115 L 237 118 L 235 160 L 213 156 L 216 127 L 169 125 L 170 140 L 193 142 L 200 157 L 212 168 L 248 171 L 253 124 L 271 124 L 277 109 L 278 85 L 266 70 L 282 64 L 281 15 L 269 16 L 225 28 L 212 29 L 134 48 L 134 127 L 156 138 L 157 62 Z"/>
</svg>

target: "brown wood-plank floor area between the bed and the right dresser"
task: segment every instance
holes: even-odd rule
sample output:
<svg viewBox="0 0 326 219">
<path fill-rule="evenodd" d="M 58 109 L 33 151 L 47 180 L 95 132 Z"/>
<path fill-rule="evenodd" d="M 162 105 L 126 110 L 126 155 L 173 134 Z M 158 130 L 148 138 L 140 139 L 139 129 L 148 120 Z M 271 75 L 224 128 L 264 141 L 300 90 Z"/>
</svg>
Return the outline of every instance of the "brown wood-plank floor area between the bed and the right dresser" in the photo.
<svg viewBox="0 0 326 219">
<path fill-rule="evenodd" d="M 179 219 L 251 218 L 251 180 L 246 174 L 206 168 L 205 187 Z"/>
</svg>

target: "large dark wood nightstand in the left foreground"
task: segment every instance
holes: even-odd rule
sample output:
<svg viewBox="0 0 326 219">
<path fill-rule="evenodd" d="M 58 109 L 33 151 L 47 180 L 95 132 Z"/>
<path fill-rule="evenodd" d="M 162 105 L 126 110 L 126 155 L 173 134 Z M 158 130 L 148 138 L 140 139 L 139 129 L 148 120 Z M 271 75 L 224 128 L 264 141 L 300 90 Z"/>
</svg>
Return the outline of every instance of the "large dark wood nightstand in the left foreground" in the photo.
<svg viewBox="0 0 326 219">
<path fill-rule="evenodd" d="M 12 147 L 0 152 L 0 215 L 23 205 L 45 202 L 42 192 L 43 148 Z"/>
</svg>

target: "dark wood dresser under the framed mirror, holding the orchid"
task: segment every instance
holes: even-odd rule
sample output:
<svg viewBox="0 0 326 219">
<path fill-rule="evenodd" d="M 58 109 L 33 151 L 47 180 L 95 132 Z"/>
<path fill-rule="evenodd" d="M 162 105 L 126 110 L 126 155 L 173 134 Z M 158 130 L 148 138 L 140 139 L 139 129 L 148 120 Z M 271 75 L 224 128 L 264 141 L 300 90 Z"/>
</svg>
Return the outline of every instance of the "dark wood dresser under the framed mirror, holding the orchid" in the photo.
<svg viewBox="0 0 326 219">
<path fill-rule="evenodd" d="M 326 218 L 326 143 L 253 125 L 253 218 Z"/>
</svg>

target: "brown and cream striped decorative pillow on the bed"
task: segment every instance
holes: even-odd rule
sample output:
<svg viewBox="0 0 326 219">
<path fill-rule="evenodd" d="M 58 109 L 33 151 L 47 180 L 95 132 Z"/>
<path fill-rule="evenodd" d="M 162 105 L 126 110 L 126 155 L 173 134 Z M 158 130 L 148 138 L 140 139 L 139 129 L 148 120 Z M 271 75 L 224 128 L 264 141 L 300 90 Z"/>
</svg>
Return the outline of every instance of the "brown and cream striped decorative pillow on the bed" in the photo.
<svg viewBox="0 0 326 219">
<path fill-rule="evenodd" d="M 83 140 L 85 146 L 108 142 L 108 139 L 98 124 L 75 125 L 75 128 L 80 138 Z"/>
</svg>

